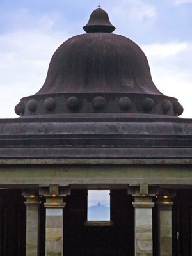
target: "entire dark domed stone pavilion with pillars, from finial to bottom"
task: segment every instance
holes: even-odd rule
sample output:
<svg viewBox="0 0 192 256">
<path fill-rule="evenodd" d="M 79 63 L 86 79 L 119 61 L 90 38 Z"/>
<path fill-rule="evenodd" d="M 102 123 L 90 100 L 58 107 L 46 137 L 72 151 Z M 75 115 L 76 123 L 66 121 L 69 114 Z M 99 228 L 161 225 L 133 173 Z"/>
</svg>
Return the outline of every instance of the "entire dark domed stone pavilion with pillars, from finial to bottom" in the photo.
<svg viewBox="0 0 192 256">
<path fill-rule="evenodd" d="M 0 255 L 190 256 L 192 120 L 102 8 L 83 29 L 0 120 Z M 109 221 L 87 220 L 90 190 Z"/>
</svg>

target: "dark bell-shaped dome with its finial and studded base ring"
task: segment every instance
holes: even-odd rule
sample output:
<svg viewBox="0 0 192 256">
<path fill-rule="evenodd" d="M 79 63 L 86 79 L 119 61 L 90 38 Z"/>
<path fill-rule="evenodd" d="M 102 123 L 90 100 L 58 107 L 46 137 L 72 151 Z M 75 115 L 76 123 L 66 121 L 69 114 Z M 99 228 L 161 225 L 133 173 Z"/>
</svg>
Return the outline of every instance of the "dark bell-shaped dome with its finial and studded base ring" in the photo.
<svg viewBox="0 0 192 256">
<path fill-rule="evenodd" d="M 154 85 L 140 47 L 125 36 L 111 33 L 115 27 L 104 10 L 93 11 L 83 29 L 86 34 L 58 47 L 44 85 L 19 102 L 15 107 L 18 115 L 182 113 L 177 99 L 164 96 Z"/>
</svg>

